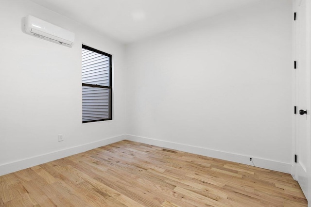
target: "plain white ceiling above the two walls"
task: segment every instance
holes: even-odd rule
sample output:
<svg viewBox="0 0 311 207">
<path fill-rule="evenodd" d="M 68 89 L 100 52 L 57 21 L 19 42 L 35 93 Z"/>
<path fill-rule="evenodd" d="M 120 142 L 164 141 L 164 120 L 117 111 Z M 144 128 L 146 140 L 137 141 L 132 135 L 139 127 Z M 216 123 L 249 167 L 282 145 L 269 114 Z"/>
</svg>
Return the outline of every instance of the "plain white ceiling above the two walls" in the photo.
<svg viewBox="0 0 311 207">
<path fill-rule="evenodd" d="M 260 0 L 31 0 L 122 43 Z"/>
</svg>

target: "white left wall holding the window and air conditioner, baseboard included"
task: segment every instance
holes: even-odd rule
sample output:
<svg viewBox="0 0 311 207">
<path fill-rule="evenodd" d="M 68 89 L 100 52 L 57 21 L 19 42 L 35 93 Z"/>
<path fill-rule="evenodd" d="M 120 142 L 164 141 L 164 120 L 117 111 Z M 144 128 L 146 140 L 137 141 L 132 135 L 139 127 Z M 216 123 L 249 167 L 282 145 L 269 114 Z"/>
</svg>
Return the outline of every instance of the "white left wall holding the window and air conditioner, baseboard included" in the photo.
<svg viewBox="0 0 311 207">
<path fill-rule="evenodd" d="M 23 33 L 29 14 L 74 32 L 74 46 Z M 0 25 L 0 175 L 121 139 L 124 45 L 28 0 L 1 0 Z M 82 43 L 113 55 L 112 121 L 82 124 Z"/>
</svg>

